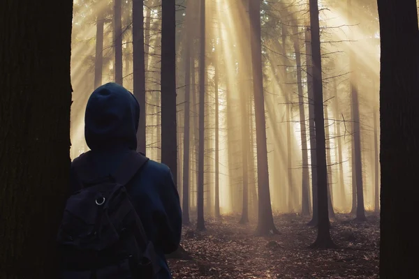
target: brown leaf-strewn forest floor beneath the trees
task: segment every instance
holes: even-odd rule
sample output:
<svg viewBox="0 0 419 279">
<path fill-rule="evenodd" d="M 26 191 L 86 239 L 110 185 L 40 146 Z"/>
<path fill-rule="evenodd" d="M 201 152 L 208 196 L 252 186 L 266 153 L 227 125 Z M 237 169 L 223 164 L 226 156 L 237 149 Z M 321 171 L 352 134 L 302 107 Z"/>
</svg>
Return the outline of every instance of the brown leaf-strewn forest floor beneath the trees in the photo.
<svg viewBox="0 0 419 279">
<path fill-rule="evenodd" d="M 331 222 L 333 250 L 309 245 L 317 229 L 309 218 L 284 214 L 274 218 L 279 235 L 256 237 L 256 223 L 240 225 L 240 216 L 205 220 L 206 230 L 184 227 L 182 247 L 192 259 L 169 259 L 173 278 L 378 278 L 379 218 L 367 222 L 337 214 Z"/>
</svg>

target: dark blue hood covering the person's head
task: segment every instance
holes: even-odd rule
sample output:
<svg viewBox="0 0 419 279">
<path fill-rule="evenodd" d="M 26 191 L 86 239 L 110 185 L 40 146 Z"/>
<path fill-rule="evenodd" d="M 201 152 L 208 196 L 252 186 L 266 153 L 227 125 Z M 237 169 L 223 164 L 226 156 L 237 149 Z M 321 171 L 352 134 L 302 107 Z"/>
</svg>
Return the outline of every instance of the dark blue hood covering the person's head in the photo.
<svg viewBox="0 0 419 279">
<path fill-rule="evenodd" d="M 92 151 L 137 149 L 140 105 L 123 86 L 109 82 L 99 86 L 87 101 L 84 137 Z"/>
</svg>

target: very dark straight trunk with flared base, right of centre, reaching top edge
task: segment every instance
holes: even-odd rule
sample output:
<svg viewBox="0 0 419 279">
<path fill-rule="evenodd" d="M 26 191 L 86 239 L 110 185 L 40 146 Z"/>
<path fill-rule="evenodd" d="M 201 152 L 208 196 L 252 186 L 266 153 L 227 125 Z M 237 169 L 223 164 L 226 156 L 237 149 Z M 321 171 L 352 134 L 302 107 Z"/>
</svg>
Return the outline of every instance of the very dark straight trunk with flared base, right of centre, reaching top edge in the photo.
<svg viewBox="0 0 419 279">
<path fill-rule="evenodd" d="M 311 50 L 313 56 L 314 122 L 316 123 L 318 234 L 313 248 L 334 248 L 330 237 L 328 214 L 328 167 L 325 150 L 325 119 L 323 116 L 323 86 L 321 73 L 320 28 L 318 1 L 309 0 L 311 22 Z"/>
</svg>

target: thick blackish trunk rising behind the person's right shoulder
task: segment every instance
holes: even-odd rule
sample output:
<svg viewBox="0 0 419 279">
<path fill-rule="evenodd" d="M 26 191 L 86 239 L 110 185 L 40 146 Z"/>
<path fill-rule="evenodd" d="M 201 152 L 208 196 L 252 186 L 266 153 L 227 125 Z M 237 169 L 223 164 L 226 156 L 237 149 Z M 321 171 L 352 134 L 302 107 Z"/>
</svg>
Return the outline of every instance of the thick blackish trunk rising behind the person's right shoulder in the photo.
<svg viewBox="0 0 419 279">
<path fill-rule="evenodd" d="M 175 0 L 161 5 L 161 163 L 177 181 Z"/>
</svg>

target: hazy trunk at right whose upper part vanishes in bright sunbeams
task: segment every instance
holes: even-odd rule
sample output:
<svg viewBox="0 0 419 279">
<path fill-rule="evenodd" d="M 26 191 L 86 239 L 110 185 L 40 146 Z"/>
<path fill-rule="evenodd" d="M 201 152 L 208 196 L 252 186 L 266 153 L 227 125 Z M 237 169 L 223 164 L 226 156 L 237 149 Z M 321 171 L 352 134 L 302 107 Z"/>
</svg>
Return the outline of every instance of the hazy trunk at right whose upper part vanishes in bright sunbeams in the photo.
<svg viewBox="0 0 419 279">
<path fill-rule="evenodd" d="M 348 17 L 352 18 L 351 0 L 348 0 Z M 349 82 L 351 86 L 351 103 L 352 103 L 352 118 L 353 118 L 353 148 L 355 155 L 355 177 L 356 177 L 356 219 L 359 221 L 366 220 L 364 208 L 364 184 L 362 181 L 362 153 L 361 153 L 361 128 L 360 128 L 360 111 L 358 101 L 358 88 L 356 86 L 356 70 L 355 54 L 350 48 L 349 59 L 351 62 L 351 73 Z"/>
</svg>

